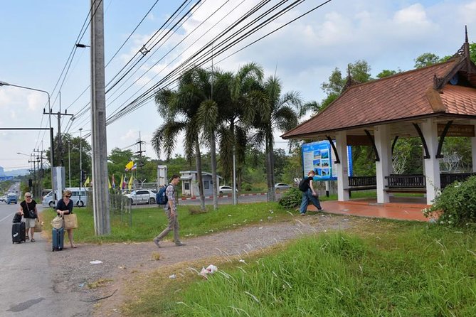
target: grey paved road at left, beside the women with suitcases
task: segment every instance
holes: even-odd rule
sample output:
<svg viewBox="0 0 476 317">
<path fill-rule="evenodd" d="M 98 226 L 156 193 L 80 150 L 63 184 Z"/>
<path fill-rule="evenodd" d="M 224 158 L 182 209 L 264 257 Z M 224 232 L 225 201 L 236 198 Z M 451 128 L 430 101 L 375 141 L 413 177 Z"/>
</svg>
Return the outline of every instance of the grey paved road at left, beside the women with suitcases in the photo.
<svg viewBox="0 0 476 317">
<path fill-rule="evenodd" d="M 19 202 L 0 203 L 0 316 L 90 316 L 88 303 L 55 291 L 51 242 L 36 233 L 36 242 L 12 244 L 11 220 L 18 208 Z"/>
</svg>

